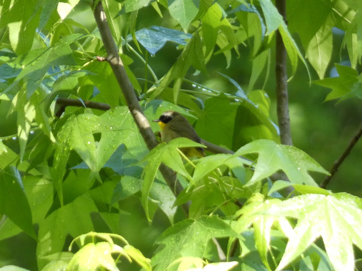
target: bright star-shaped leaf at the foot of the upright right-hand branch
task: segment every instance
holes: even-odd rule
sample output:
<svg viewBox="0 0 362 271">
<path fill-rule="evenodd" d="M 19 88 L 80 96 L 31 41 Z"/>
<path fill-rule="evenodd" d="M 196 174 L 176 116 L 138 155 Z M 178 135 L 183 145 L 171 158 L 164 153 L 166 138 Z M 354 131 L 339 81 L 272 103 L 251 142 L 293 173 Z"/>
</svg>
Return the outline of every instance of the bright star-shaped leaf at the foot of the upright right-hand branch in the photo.
<svg viewBox="0 0 362 271">
<path fill-rule="evenodd" d="M 282 169 L 289 180 L 296 184 L 317 186 L 308 171 L 329 174 L 315 160 L 302 150 L 293 146 L 278 145 L 274 141 L 259 139 L 253 141 L 235 152 L 235 155 L 258 153 L 254 175 L 247 185 L 260 181 L 279 169 Z"/>
</svg>

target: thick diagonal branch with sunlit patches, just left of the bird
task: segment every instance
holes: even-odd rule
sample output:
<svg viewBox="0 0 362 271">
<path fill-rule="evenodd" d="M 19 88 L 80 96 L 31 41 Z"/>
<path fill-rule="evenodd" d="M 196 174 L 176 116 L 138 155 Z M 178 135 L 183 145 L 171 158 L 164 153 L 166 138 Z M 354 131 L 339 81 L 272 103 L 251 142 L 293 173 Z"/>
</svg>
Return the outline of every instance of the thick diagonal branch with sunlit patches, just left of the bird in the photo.
<svg viewBox="0 0 362 271">
<path fill-rule="evenodd" d="M 94 1 L 93 3 L 96 3 L 96 1 Z M 104 48 L 107 52 L 106 60 L 108 61 L 113 70 L 119 87 L 121 87 L 123 96 L 125 97 L 127 106 L 138 127 L 138 130 L 142 135 L 148 149 L 151 150 L 157 146 L 156 137 L 153 134 L 150 123 L 146 119 L 146 116 L 144 116 L 144 113 L 133 90 L 133 86 L 127 76 L 125 67 L 123 66 L 122 60 L 118 55 L 117 46 L 109 29 L 106 14 L 103 10 L 102 1 L 97 2 L 96 6 L 94 7 L 93 14 L 99 29 L 99 33 L 101 34 Z M 183 188 L 180 182 L 178 182 L 178 180 L 176 179 L 176 173 L 163 164 L 160 165 L 159 169 L 173 193 L 176 196 L 180 194 Z M 182 208 L 184 209 L 186 214 L 189 213 L 188 204 L 182 205 Z"/>
</svg>

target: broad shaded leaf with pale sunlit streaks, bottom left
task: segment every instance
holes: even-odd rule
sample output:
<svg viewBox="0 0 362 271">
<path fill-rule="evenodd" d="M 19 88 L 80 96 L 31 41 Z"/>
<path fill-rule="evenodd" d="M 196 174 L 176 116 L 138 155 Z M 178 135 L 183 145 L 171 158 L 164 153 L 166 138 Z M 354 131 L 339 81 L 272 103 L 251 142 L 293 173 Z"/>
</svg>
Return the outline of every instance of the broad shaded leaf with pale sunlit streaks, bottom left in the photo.
<svg viewBox="0 0 362 271">
<path fill-rule="evenodd" d="M 53 211 L 39 223 L 37 245 L 39 270 L 47 263 L 47 255 L 63 250 L 68 234 L 75 238 L 94 230 L 90 218 L 92 212 L 98 212 L 94 202 L 88 195 L 81 195 L 71 203 Z M 77 223 L 74 223 L 75 221 Z"/>
</svg>

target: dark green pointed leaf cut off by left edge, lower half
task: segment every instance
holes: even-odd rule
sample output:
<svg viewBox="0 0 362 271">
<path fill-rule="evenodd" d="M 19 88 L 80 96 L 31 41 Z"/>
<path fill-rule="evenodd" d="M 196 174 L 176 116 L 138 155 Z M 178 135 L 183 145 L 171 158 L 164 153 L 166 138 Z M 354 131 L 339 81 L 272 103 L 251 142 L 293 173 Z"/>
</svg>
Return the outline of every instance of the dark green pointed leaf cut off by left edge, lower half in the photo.
<svg viewBox="0 0 362 271">
<path fill-rule="evenodd" d="M 37 239 L 20 173 L 13 166 L 3 169 L 0 174 L 0 213 L 7 215 L 28 235 Z"/>
</svg>

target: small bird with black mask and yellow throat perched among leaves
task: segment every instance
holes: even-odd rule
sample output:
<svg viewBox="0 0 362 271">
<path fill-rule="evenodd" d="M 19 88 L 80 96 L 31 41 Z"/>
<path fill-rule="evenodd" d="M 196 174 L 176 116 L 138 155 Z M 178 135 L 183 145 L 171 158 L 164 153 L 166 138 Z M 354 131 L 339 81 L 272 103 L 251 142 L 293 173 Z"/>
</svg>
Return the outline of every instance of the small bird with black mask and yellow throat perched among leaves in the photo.
<svg viewBox="0 0 362 271">
<path fill-rule="evenodd" d="M 168 143 L 174 138 L 186 137 L 202 144 L 201 138 L 197 135 L 190 122 L 176 111 L 168 110 L 164 112 L 158 120 L 153 121 L 158 122 L 160 125 L 161 140 L 163 142 Z M 201 147 L 180 148 L 180 150 L 188 157 L 205 156 L 204 149 Z"/>
</svg>

